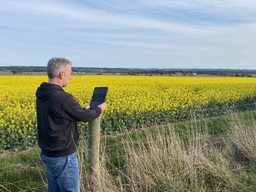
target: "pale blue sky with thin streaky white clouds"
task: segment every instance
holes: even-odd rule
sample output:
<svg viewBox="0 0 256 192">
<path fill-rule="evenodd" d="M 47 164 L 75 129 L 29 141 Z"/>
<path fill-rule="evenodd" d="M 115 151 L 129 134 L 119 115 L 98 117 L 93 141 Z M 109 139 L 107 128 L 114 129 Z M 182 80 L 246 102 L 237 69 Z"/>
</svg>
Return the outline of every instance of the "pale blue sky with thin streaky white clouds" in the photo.
<svg viewBox="0 0 256 192">
<path fill-rule="evenodd" d="M 255 0 L 0 0 L 0 66 L 256 69 Z"/>
</svg>

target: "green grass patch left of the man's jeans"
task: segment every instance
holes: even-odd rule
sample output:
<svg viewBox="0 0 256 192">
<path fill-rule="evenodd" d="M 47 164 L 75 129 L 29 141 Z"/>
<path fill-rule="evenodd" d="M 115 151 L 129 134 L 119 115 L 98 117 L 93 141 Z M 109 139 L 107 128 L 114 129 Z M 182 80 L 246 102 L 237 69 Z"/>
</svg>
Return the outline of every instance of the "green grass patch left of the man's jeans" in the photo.
<svg viewBox="0 0 256 192">
<path fill-rule="evenodd" d="M 0 191 L 42 191 L 46 189 L 45 171 L 39 149 L 11 152 L 0 157 Z"/>
</svg>

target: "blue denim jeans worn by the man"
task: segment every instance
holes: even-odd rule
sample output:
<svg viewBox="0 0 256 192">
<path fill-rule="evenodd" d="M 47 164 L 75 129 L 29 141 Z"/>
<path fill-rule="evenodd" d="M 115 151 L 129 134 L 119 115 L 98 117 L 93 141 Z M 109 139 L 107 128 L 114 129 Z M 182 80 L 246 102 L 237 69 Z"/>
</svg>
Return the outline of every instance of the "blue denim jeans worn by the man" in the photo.
<svg viewBox="0 0 256 192">
<path fill-rule="evenodd" d="M 48 191 L 80 191 L 76 152 L 57 158 L 41 153 L 41 159 L 46 164 Z"/>
</svg>

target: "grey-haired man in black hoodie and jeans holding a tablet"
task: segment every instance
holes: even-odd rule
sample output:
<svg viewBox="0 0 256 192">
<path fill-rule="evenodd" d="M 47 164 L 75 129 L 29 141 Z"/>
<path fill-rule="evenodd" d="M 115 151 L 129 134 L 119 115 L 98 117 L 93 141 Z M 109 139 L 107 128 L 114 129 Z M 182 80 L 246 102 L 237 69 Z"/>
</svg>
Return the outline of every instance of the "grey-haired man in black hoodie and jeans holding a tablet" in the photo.
<svg viewBox="0 0 256 192">
<path fill-rule="evenodd" d="M 36 91 L 37 136 L 41 158 L 46 164 L 48 191 L 79 191 L 79 167 L 76 146 L 79 133 L 76 122 L 89 122 L 102 112 L 106 103 L 95 109 L 82 107 L 65 92 L 71 80 L 71 62 L 53 57 L 47 64 L 49 81 Z"/>
</svg>

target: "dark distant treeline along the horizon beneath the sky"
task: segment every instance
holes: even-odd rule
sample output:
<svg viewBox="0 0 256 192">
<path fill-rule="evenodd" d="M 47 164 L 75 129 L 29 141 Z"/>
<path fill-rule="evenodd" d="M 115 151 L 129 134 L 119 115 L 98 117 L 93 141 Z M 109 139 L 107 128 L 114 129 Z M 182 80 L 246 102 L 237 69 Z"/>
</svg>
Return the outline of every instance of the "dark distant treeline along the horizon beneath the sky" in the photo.
<svg viewBox="0 0 256 192">
<path fill-rule="evenodd" d="M 46 72 L 46 67 L 42 66 L 5 66 L 0 67 L 1 71 L 10 71 L 13 74 L 24 72 Z M 135 68 L 99 68 L 99 67 L 72 67 L 77 73 L 96 74 L 126 74 L 126 75 L 221 75 L 230 77 L 252 77 L 256 70 L 249 69 L 135 69 Z"/>
</svg>

